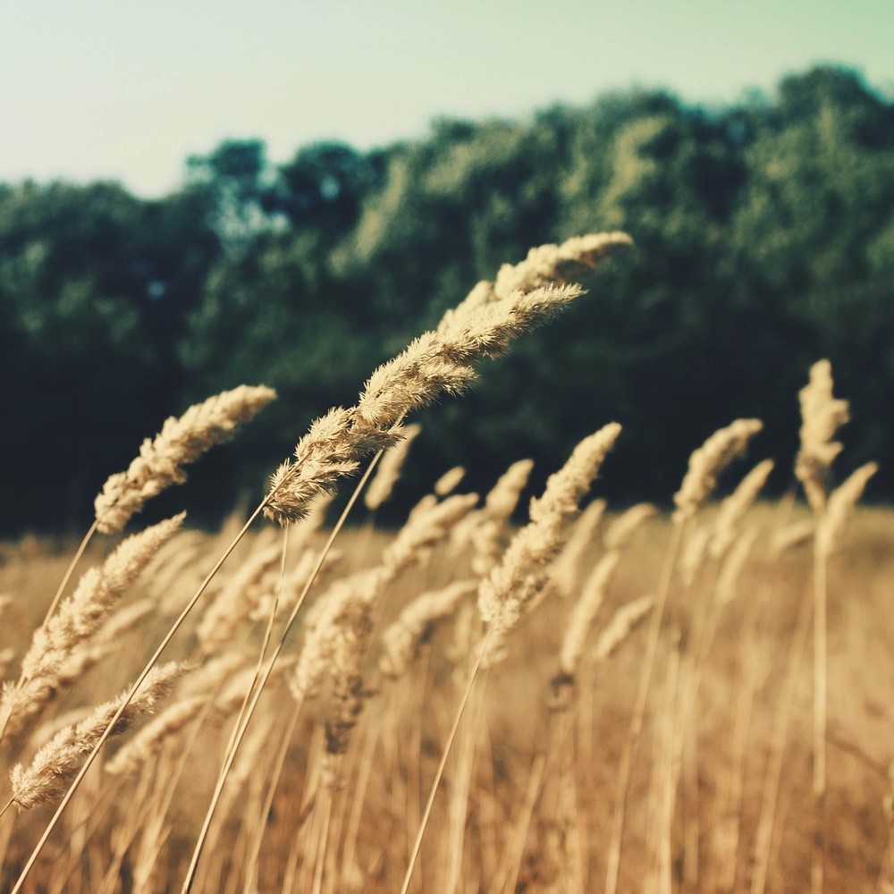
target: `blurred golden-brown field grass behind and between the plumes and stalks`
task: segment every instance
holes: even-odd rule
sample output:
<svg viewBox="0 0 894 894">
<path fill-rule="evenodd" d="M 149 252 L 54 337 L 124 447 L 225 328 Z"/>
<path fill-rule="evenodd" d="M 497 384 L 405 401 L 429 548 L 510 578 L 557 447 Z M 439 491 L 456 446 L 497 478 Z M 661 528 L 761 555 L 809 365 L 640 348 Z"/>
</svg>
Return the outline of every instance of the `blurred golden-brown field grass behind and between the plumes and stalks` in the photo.
<svg viewBox="0 0 894 894">
<path fill-rule="evenodd" d="M 767 890 L 805 890 L 809 884 L 813 836 L 809 647 L 794 668 L 792 662 L 797 658 L 793 643 L 798 612 L 809 596 L 812 560 L 804 546 L 783 554 L 776 563 L 764 558 L 763 546 L 772 527 L 780 525 L 783 510 L 762 504 L 746 519 L 747 525 L 761 528 L 761 539 L 704 657 L 697 722 L 688 730 L 686 745 L 679 748 L 683 769 L 668 829 L 667 814 L 662 816 L 660 809 L 667 800 L 661 764 L 671 721 L 668 712 L 690 685 L 695 669 L 687 654 L 698 625 L 694 612 L 704 611 L 716 569 L 709 560 L 691 589 L 679 578 L 672 585 L 657 682 L 631 780 L 620 890 L 642 890 L 651 867 L 661 866 L 662 837 L 668 834 L 673 890 L 724 890 L 721 879 L 729 873 L 730 861 L 738 890 L 749 890 L 773 727 L 790 672 L 795 679 L 794 701 L 769 844 Z M 627 735 L 645 630 L 637 629 L 605 662 L 593 660 L 592 646 L 611 611 L 654 588 L 670 533 L 666 520 L 647 521 L 622 554 L 589 637 L 559 741 L 550 679 L 574 603 L 558 596 L 545 599 L 520 622 L 506 661 L 482 678 L 477 704 L 467 713 L 464 738 L 448 763 L 443 797 L 435 801 L 411 890 L 575 890 L 581 883 L 581 890 L 601 890 L 615 771 Z M 188 544 L 193 548 L 193 538 L 181 535 L 181 539 L 184 548 Z M 263 534 L 250 536 L 240 545 L 241 558 L 262 548 L 264 541 Z M 331 575 L 375 565 L 390 542 L 391 536 L 382 532 L 364 528 L 346 532 L 342 562 Z M 195 561 L 212 561 L 218 549 L 219 538 L 204 536 Z M 580 579 L 601 555 L 597 538 L 581 561 Z M 16 595 L 5 613 L 6 641 L 21 654 L 66 558 L 33 540 L 5 544 L 3 557 L 0 591 Z M 232 568 L 237 569 L 238 563 Z M 425 565 L 389 589 L 376 629 L 394 620 L 419 593 L 472 574 L 468 557 L 462 560 L 447 545 L 439 545 Z M 890 510 L 859 510 L 829 567 L 827 890 L 875 890 L 888 843 L 890 826 L 883 802 L 890 791 L 887 766 L 894 742 L 892 582 L 894 515 Z M 190 586 L 190 579 L 181 581 L 184 598 Z M 137 601 L 151 593 L 147 580 L 130 598 Z M 745 628 L 755 603 L 755 632 L 749 640 Z M 75 705 L 95 704 L 120 689 L 139 670 L 147 651 L 143 644 L 154 641 L 163 625 L 164 619 L 156 617 L 148 628 L 126 635 L 112 659 L 62 696 L 44 721 Z M 252 646 L 258 642 L 257 627 L 253 634 L 251 630 L 251 625 L 241 628 L 240 642 L 232 646 L 245 662 L 252 660 Z M 190 642 L 184 637 L 174 657 L 189 657 Z M 367 684 L 375 694 L 350 737 L 339 785 L 332 790 L 322 890 L 400 887 L 421 803 L 464 682 L 468 654 L 462 650 L 467 645 L 468 619 L 460 611 L 459 621 L 434 631 L 400 679 L 379 678 L 372 666 L 375 651 L 369 656 Z M 679 694 L 671 699 L 665 690 L 673 664 L 678 667 Z M 209 682 L 209 691 L 229 682 L 232 673 Z M 749 679 L 754 698 L 743 707 L 740 696 Z M 245 767 L 241 776 L 237 773 L 227 782 L 225 790 L 235 790 L 224 799 L 226 812 L 213 827 L 211 849 L 200 864 L 199 890 L 244 890 L 247 856 L 262 830 L 257 890 L 283 890 L 290 883 L 293 890 L 312 890 L 323 828 L 315 797 L 321 797 L 318 786 L 325 765 L 321 724 L 326 698 L 324 691 L 301 710 L 265 824 L 260 817 L 266 789 L 294 702 L 282 686 L 264 697 L 255 718 L 257 729 L 264 730 L 258 738 L 261 745 L 257 754 L 249 755 L 250 769 Z M 730 854 L 728 808 L 731 774 L 737 769 L 733 733 L 738 713 L 746 709 L 750 722 L 744 763 L 738 768 L 741 823 L 738 847 Z M 45 848 L 24 890 L 177 890 L 231 724 L 232 717 L 222 727 L 199 711 L 195 721 L 178 730 L 138 775 L 123 784 L 103 772 L 90 777 L 92 782 L 74 798 L 63 828 Z M 691 774 L 685 770 L 687 749 L 696 750 L 692 758 L 696 770 Z M 187 755 L 184 769 L 181 761 Z M 457 791 L 460 783 L 462 790 Z M 462 816 L 459 835 L 458 815 Z M 46 819 L 47 808 L 37 808 L 21 814 L 13 809 L 0 820 L 4 889 L 13 883 Z M 581 855 L 577 881 L 569 856 L 572 840 Z M 139 889 L 131 887 L 138 876 Z"/>
</svg>

